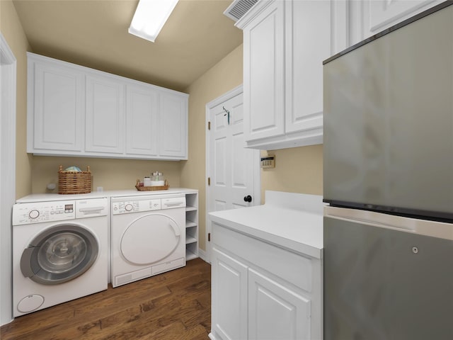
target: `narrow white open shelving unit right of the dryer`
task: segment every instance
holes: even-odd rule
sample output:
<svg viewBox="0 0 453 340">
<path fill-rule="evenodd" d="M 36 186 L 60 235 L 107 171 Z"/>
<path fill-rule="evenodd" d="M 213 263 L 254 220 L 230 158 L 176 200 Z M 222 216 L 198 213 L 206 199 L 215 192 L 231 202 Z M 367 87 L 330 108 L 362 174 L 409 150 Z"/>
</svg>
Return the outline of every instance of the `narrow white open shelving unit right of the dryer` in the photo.
<svg viewBox="0 0 453 340">
<path fill-rule="evenodd" d="M 185 193 L 185 260 L 198 257 L 198 191 Z"/>
</svg>

